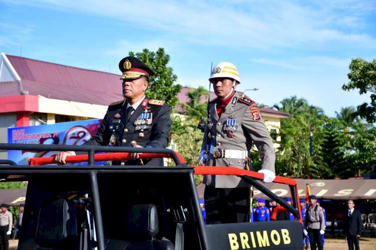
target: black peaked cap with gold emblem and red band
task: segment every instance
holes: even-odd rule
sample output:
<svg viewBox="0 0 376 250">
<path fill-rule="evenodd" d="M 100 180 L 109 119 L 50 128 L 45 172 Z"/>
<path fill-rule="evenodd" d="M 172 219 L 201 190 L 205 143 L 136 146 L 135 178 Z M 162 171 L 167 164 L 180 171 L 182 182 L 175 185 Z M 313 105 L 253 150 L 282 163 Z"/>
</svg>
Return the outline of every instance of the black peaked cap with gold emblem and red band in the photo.
<svg viewBox="0 0 376 250">
<path fill-rule="evenodd" d="M 125 57 L 121 59 L 119 69 L 123 72 L 120 79 L 137 79 L 143 76 L 148 78 L 149 76 L 155 75 L 154 71 L 135 57 Z"/>
</svg>

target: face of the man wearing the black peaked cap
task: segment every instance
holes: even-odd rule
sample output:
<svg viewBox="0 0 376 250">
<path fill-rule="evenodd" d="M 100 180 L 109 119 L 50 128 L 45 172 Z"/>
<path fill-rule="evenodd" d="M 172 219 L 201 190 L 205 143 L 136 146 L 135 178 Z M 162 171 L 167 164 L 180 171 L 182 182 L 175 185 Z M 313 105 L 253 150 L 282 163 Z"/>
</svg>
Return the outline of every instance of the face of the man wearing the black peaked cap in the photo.
<svg viewBox="0 0 376 250">
<path fill-rule="evenodd" d="M 144 95 L 149 83 L 145 77 L 138 79 L 124 79 L 123 96 L 131 103 L 135 103 L 140 100 Z"/>
</svg>

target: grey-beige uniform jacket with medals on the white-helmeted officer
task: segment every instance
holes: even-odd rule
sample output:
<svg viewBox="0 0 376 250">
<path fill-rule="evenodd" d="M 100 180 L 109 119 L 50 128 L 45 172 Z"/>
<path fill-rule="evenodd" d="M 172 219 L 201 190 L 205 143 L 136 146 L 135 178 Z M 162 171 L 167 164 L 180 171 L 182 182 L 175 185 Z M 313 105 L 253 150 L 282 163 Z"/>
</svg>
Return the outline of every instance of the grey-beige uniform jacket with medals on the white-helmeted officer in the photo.
<svg viewBox="0 0 376 250">
<path fill-rule="evenodd" d="M 218 117 L 216 100 L 214 99 L 209 103 L 208 124 L 201 148 L 201 150 L 208 151 L 212 148 L 206 165 L 244 169 L 242 158 L 215 158 L 213 148 L 240 150 L 249 153 L 252 143 L 255 143 L 261 155 L 262 169 L 275 172 L 273 141 L 262 120 L 257 104 L 251 99 L 240 97 L 235 92 L 233 98 L 223 110 L 221 117 Z M 249 186 L 246 181 L 234 175 L 204 175 L 203 183 L 218 188 Z"/>
</svg>

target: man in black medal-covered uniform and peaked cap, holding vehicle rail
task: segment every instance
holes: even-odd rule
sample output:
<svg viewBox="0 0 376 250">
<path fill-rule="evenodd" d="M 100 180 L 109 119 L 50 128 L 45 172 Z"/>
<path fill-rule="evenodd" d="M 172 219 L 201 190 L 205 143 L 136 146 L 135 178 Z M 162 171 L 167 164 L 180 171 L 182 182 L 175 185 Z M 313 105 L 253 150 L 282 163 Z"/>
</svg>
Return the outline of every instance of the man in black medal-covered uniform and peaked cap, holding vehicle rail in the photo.
<svg viewBox="0 0 376 250">
<path fill-rule="evenodd" d="M 149 100 L 145 91 L 154 72 L 135 57 L 125 57 L 119 63 L 124 100 L 111 103 L 97 133 L 83 145 L 165 148 L 171 130 L 170 108 L 161 100 Z M 82 152 L 59 152 L 58 164 L 66 164 L 68 155 Z M 132 160 L 112 165 L 163 165 L 163 158 L 143 159 L 132 153 Z"/>
</svg>

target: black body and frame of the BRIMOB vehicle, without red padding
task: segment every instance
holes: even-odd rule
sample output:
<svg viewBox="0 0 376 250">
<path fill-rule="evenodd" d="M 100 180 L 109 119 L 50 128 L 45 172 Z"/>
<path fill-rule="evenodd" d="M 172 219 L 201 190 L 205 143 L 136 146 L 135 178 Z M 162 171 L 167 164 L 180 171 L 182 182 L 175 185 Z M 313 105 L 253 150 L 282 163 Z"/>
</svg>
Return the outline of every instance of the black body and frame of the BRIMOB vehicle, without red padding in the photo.
<svg viewBox="0 0 376 250">
<path fill-rule="evenodd" d="M 297 220 L 204 224 L 195 184 L 195 168 L 180 162 L 174 151 L 168 149 L 122 148 L 100 146 L 0 144 L 0 150 L 86 151 L 89 164 L 82 165 L 15 165 L 0 160 L 0 179 L 28 181 L 25 211 L 19 247 L 37 240 L 52 248 L 59 246 L 61 232 L 59 218 L 51 215 L 52 225 L 44 221 L 45 230 L 51 230 L 44 242 L 41 230 L 42 208 L 58 200 L 73 203 L 77 229 L 70 249 L 115 249 L 109 242 L 143 240 L 127 231 L 127 211 L 138 204 L 154 204 L 157 209 L 158 233 L 156 239 L 169 240 L 175 249 L 301 249 L 302 225 L 296 187 L 290 185 L 293 204 L 288 205 L 254 178 L 243 176 L 250 184 L 277 200 L 291 211 Z M 176 166 L 97 166 L 95 152 L 142 152 L 166 154 Z M 72 211 L 70 211 L 72 212 Z M 56 213 L 56 216 L 60 216 Z M 55 223 L 56 220 L 59 223 Z M 301 220 L 300 220 L 301 221 Z M 65 229 L 64 229 L 65 230 Z M 73 233 L 73 234 L 75 234 Z M 43 233 L 42 233 L 43 234 Z M 69 234 L 69 233 L 68 233 Z M 43 235 L 42 235 L 43 236 Z M 147 235 L 150 237 L 149 235 Z M 59 238 L 59 239 L 57 239 Z M 151 237 L 150 237 L 151 238 Z M 149 239 L 148 239 L 149 240 Z M 77 247 L 77 248 L 76 248 Z M 67 248 L 68 249 L 68 248 Z M 120 249 L 120 248 L 118 248 Z M 125 248 L 124 248 L 125 249 Z"/>
</svg>

